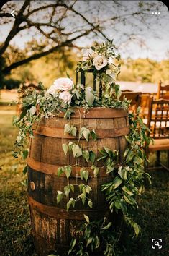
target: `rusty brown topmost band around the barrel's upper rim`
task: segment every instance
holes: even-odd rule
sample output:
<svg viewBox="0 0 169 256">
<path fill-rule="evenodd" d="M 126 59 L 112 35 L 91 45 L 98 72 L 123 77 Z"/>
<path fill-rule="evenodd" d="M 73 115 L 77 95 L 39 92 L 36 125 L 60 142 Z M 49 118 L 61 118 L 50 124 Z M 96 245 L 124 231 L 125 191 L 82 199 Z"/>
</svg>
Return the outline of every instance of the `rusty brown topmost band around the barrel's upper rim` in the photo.
<svg viewBox="0 0 169 256">
<path fill-rule="evenodd" d="M 96 107 L 96 108 L 71 108 L 75 113 L 71 114 L 73 118 L 86 118 L 86 119 L 102 119 L 102 118 L 117 118 L 128 116 L 128 111 L 123 108 L 105 108 L 105 107 Z M 60 113 L 57 116 L 63 117 L 65 113 Z"/>
</svg>

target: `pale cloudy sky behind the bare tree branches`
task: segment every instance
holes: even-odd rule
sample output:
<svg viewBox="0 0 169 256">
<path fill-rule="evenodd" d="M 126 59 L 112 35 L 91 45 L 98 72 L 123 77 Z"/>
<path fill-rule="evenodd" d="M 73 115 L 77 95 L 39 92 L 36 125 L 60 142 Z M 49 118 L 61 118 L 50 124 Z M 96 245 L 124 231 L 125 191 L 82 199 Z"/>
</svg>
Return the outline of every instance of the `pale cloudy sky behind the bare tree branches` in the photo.
<svg viewBox="0 0 169 256">
<path fill-rule="evenodd" d="M 17 11 L 23 4 L 23 1 L 10 2 L 14 4 L 14 13 L 17 15 Z M 150 58 L 157 61 L 169 59 L 169 12 L 168 8 L 161 1 L 144 1 L 147 4 L 151 3 L 154 6 L 145 13 L 149 28 L 145 26 L 144 19 L 140 21 L 137 17 L 127 17 L 126 25 L 124 25 L 123 22 L 117 22 L 117 24 L 112 27 L 109 22 L 112 14 L 114 17 L 117 17 L 118 15 L 129 15 L 129 12 L 137 12 L 137 6 L 140 1 L 119 1 L 122 2 L 122 6 L 119 6 L 119 9 L 118 7 L 116 9 L 113 8 L 113 1 L 91 1 L 89 5 L 87 2 L 88 1 L 77 1 L 75 9 L 80 10 L 81 13 L 85 14 L 86 17 L 88 17 L 88 20 L 92 19 L 92 15 L 97 18 L 96 12 L 98 12 L 98 18 L 103 20 L 101 25 L 104 27 L 104 32 L 109 38 L 114 38 L 114 43 L 118 47 L 118 51 L 122 57 L 131 57 L 132 59 Z M 6 8 L 6 12 L 9 12 L 9 9 Z M 155 12 L 157 12 L 157 15 L 155 15 Z M 160 12 L 160 14 L 158 14 L 158 12 Z M 40 20 L 41 16 L 35 17 L 35 19 Z M 6 35 L 12 27 L 13 21 L 14 18 L 11 17 L 9 18 L 9 22 L 5 25 L 1 25 L 0 18 L 0 41 L 3 41 L 6 38 Z M 75 22 L 78 23 L 78 20 Z M 140 27 L 140 29 L 134 30 L 131 25 L 132 23 Z M 125 33 L 126 35 L 124 35 Z M 129 42 L 127 42 L 128 34 L 132 34 L 132 38 Z M 37 35 L 35 30 L 30 30 L 27 33 L 24 32 L 15 36 L 11 43 L 19 46 L 19 48 L 24 48 L 25 43 L 27 43 L 30 38 L 37 38 L 37 40 L 39 40 L 40 35 Z M 90 46 L 92 41 L 93 38 L 91 37 L 81 38 L 78 40 L 77 45 L 84 47 Z"/>
</svg>

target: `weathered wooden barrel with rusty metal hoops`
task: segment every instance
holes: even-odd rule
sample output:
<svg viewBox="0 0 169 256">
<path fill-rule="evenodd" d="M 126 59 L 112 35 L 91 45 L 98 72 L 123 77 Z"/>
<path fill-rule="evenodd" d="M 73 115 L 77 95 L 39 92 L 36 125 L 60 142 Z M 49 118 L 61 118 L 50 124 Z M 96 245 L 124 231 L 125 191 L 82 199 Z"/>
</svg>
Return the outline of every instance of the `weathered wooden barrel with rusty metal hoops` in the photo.
<svg viewBox="0 0 169 256">
<path fill-rule="evenodd" d="M 56 197 L 58 190 L 68 185 L 68 179 L 65 174 L 57 176 L 57 170 L 60 166 L 74 166 L 75 158 L 73 155 L 63 152 L 62 144 L 68 142 L 78 142 L 77 137 L 64 134 L 64 126 L 70 121 L 78 131 L 80 127 L 94 129 L 97 140 L 88 142 L 81 138 L 80 146 L 87 150 L 93 150 L 99 155 L 98 149 L 106 146 L 111 150 L 119 150 L 119 158 L 127 147 L 125 135 L 129 134 L 128 113 L 120 108 L 90 108 L 88 112 L 83 108 L 75 110 L 71 119 L 64 119 L 64 114 L 59 114 L 54 118 L 43 119 L 40 126 L 37 127 L 35 137 L 30 141 L 28 192 L 29 192 L 29 209 L 32 222 L 32 233 L 35 238 L 35 247 L 39 255 L 48 255 L 57 249 L 63 252 L 70 245 L 71 238 L 84 221 L 83 215 L 89 218 L 100 219 L 107 210 L 101 184 L 109 182 L 111 175 L 106 174 L 104 162 L 97 162 L 100 172 L 99 176 L 93 177 L 90 163 L 87 163 L 82 157 L 78 159 L 78 165 L 88 167 L 88 181 L 81 180 L 79 174 L 80 167 L 73 167 L 72 174 L 69 178 L 69 184 L 75 184 L 75 192 L 70 196 L 63 197 L 63 200 L 57 204 Z M 78 177 L 76 176 L 78 170 Z M 66 203 L 70 197 L 75 198 L 79 195 L 76 191 L 76 184 L 88 184 L 92 191 L 90 197 L 93 200 L 93 208 L 89 208 L 81 201 L 76 202 L 75 208 L 66 211 Z M 78 189 L 78 187 L 77 187 Z"/>
</svg>

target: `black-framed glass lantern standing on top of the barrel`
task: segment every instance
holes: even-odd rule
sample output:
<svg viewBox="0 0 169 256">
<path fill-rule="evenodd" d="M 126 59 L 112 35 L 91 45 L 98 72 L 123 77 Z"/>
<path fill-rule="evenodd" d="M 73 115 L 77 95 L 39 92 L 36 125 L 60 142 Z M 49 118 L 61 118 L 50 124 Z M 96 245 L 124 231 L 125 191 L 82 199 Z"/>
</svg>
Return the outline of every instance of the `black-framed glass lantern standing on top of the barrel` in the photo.
<svg viewBox="0 0 169 256">
<path fill-rule="evenodd" d="M 97 73 L 93 72 L 93 69 L 88 71 L 80 69 L 79 72 L 76 72 L 76 85 L 78 83 L 81 83 L 84 87 L 91 86 L 94 91 L 99 93 L 99 98 L 102 98 L 102 82 L 97 80 Z"/>
</svg>

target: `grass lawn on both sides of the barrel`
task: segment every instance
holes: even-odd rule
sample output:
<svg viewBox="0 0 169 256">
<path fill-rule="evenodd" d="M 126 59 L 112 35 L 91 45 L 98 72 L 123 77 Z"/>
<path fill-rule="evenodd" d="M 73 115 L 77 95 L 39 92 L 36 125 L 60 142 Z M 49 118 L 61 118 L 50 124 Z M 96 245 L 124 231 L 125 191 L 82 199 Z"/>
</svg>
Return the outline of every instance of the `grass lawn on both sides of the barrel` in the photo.
<svg viewBox="0 0 169 256">
<path fill-rule="evenodd" d="M 35 256 L 27 206 L 27 176 L 22 174 L 25 163 L 12 157 L 17 135 L 17 129 L 12 127 L 12 116 L 16 107 L 7 108 L 8 111 L 0 107 L 0 256 Z M 151 155 L 151 161 L 154 160 L 155 155 Z M 132 239 L 132 232 L 126 231 L 126 252 L 122 256 L 169 255 L 169 173 L 151 171 L 150 175 L 152 186 L 147 185 L 145 194 L 138 200 L 139 210 L 134 213 L 142 233 L 138 239 Z M 163 248 L 153 250 L 152 238 L 162 238 Z"/>
</svg>

